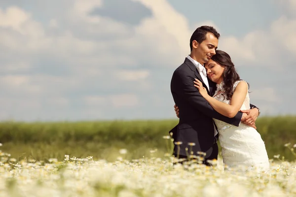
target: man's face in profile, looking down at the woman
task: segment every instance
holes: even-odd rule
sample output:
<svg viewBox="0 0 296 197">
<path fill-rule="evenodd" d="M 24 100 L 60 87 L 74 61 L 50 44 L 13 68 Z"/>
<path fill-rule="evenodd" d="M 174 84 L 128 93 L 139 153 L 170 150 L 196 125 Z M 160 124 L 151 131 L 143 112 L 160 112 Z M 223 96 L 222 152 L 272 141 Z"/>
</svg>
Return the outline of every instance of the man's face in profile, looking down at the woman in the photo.
<svg viewBox="0 0 296 197">
<path fill-rule="evenodd" d="M 213 33 L 207 33 L 206 39 L 201 43 L 193 43 L 195 48 L 195 57 L 200 64 L 207 63 L 213 55 L 216 54 L 218 47 L 218 38 Z"/>
</svg>

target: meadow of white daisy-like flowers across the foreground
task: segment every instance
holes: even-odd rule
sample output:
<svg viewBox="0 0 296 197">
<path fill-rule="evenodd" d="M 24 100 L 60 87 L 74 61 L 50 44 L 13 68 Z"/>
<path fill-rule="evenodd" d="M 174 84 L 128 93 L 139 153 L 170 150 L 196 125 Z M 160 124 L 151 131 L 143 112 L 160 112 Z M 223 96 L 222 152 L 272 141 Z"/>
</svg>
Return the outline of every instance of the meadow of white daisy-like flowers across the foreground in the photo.
<svg viewBox="0 0 296 197">
<path fill-rule="evenodd" d="M 294 147 L 285 144 L 293 154 Z M 157 150 L 151 150 L 155 152 Z M 279 155 L 270 170 L 260 172 L 229 168 L 222 161 L 213 166 L 176 158 L 126 160 L 120 150 L 114 162 L 91 156 L 63 161 L 17 161 L 0 152 L 0 197 L 293 197 L 296 196 L 296 163 Z"/>
</svg>

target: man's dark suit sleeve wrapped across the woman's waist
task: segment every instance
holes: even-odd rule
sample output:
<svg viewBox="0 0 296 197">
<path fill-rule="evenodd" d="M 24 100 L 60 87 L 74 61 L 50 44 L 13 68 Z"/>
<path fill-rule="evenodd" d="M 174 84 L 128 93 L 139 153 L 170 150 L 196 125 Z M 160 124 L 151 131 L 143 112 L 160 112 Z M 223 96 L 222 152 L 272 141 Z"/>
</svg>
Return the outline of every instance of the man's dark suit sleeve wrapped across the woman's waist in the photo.
<svg viewBox="0 0 296 197">
<path fill-rule="evenodd" d="M 223 116 L 218 113 L 209 102 L 201 96 L 198 89 L 194 87 L 194 79 L 192 76 L 187 76 L 180 72 L 175 72 L 174 75 L 176 77 L 176 83 L 178 83 L 178 94 L 182 95 L 194 108 L 211 118 L 221 120 L 237 127 L 239 126 L 243 115 L 241 112 L 238 112 L 233 118 Z"/>
</svg>

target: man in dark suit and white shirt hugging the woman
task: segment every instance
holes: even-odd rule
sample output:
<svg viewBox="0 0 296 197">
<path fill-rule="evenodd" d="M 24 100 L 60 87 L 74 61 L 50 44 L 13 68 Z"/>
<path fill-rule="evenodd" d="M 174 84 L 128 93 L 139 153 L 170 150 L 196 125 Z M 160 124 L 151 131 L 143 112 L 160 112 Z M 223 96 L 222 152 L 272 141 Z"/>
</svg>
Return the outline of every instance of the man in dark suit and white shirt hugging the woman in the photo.
<svg viewBox="0 0 296 197">
<path fill-rule="evenodd" d="M 180 109 L 180 112 L 179 109 L 176 111 L 179 124 L 169 131 L 173 133 L 175 143 L 173 155 L 186 159 L 188 155 L 200 156 L 197 152 L 204 152 L 203 164 L 206 165 L 210 165 L 207 160 L 218 159 L 218 132 L 213 118 L 234 126 L 247 121 L 244 123 L 256 128 L 255 121 L 259 115 L 259 108 L 251 104 L 253 109 L 245 111 L 247 113 L 238 112 L 234 118 L 225 117 L 215 111 L 194 87 L 193 81 L 197 78 L 209 95 L 213 96 L 216 91 L 216 84 L 207 78 L 203 65 L 216 54 L 219 37 L 213 27 L 197 28 L 190 38 L 190 55 L 174 71 L 171 80 L 171 93 Z"/>
</svg>

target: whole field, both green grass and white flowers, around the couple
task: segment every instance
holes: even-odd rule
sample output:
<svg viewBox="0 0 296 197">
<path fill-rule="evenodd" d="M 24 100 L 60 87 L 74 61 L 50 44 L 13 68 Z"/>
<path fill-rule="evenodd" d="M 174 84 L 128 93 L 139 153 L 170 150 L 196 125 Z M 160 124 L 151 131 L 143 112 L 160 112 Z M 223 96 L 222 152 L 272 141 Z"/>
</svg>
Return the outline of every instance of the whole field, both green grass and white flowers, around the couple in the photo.
<svg viewBox="0 0 296 197">
<path fill-rule="evenodd" d="M 267 172 L 224 168 L 221 158 L 214 167 L 173 166 L 163 136 L 176 124 L 2 122 L 0 197 L 296 196 L 296 117 L 258 120 Z"/>
</svg>

